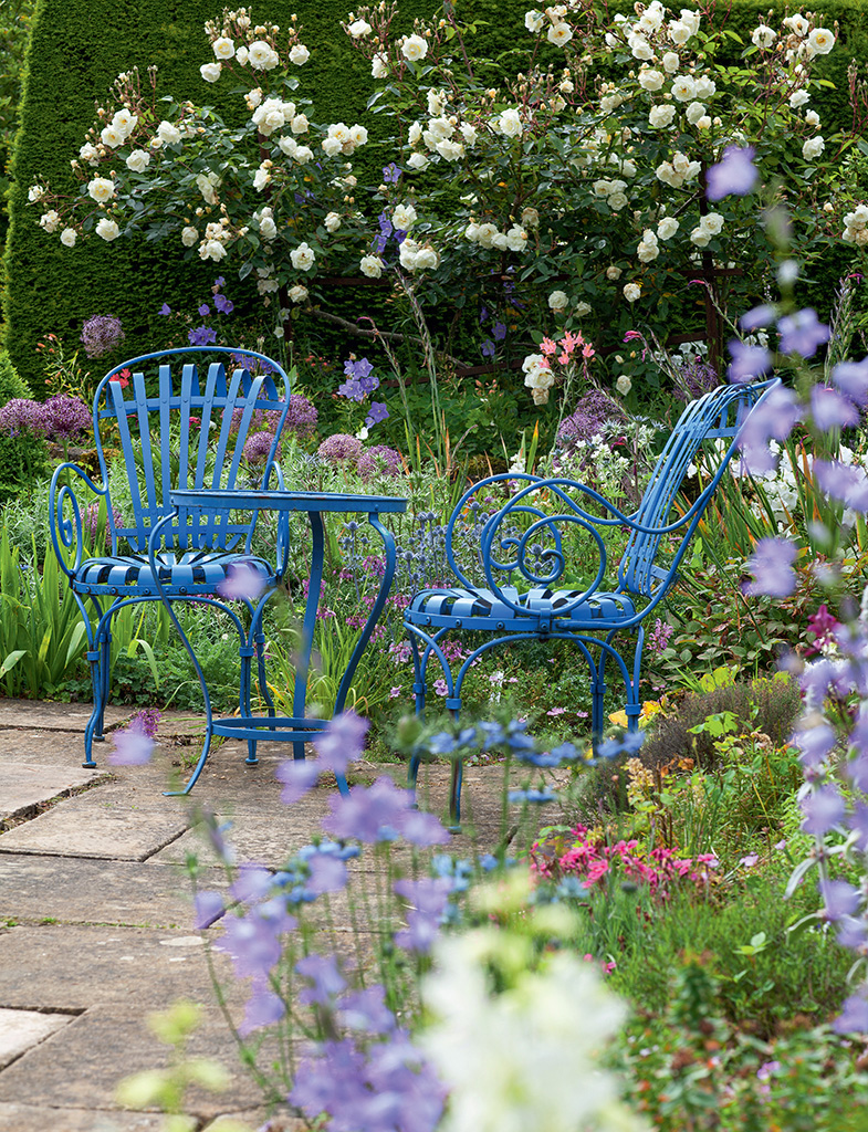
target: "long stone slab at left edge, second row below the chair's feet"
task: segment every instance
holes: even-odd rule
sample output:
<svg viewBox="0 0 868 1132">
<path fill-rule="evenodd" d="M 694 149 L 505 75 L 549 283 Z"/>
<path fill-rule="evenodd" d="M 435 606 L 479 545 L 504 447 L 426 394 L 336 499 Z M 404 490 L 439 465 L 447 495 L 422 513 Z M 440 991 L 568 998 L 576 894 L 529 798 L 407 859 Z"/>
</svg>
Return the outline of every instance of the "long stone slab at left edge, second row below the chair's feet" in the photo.
<svg viewBox="0 0 868 1132">
<path fill-rule="evenodd" d="M 201 884 L 224 887 L 225 874 L 207 871 Z M 63 857 L 0 854 L 0 918 L 191 929 L 192 897 L 169 865 L 83 858 L 70 868 Z"/>
</svg>

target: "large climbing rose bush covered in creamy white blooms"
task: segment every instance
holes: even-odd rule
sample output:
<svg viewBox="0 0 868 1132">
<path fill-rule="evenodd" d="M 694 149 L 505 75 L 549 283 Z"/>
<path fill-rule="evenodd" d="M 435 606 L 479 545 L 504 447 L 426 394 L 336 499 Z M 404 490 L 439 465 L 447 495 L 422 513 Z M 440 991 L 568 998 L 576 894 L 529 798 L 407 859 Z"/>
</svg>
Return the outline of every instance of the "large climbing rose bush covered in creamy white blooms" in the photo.
<svg viewBox="0 0 868 1132">
<path fill-rule="evenodd" d="M 238 120 L 161 100 L 153 69 L 144 84 L 121 75 L 72 160 L 78 199 L 31 189 L 45 238 L 71 249 L 81 235 L 144 231 L 252 273 L 280 335 L 289 311 L 327 302 L 318 275 L 387 286 L 399 274 L 399 302 L 411 288 L 416 309 L 459 312 L 463 365 L 533 370 L 541 405 L 549 389 L 523 360 L 544 336 L 593 338 L 600 380 L 626 332 L 703 337 L 712 306 L 762 294 L 775 252 L 758 238 L 757 198 L 719 205 L 705 180 L 729 149 L 751 153 L 766 203 L 785 185 L 802 263 L 830 242 L 861 254 L 866 225 L 850 223 L 865 208 L 859 152 L 810 109 L 813 65 L 835 46 L 813 16 L 763 23 L 741 43 L 703 9 L 652 0 L 603 22 L 590 0 L 570 0 L 528 10 L 519 46 L 492 63 L 472 58 L 473 28 L 452 9 L 403 34 L 398 15 L 384 2 L 343 24 L 392 132 L 383 183 L 353 172 L 368 128 L 318 121 L 302 97 L 310 52 L 297 18 L 282 29 L 224 9 L 205 26 L 203 96 L 233 84 Z M 497 333 L 481 328 L 485 315 Z M 634 396 L 661 380 L 652 361 L 631 376 Z"/>
</svg>

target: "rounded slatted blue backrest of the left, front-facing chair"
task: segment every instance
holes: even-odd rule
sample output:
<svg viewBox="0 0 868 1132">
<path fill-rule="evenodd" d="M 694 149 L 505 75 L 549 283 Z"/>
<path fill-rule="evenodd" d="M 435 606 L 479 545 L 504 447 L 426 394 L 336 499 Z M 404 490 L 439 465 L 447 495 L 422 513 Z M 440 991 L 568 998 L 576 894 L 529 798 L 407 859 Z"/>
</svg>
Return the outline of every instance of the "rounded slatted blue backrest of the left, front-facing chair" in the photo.
<svg viewBox="0 0 868 1132">
<path fill-rule="evenodd" d="M 209 365 L 204 387 L 190 354 L 216 355 L 206 358 Z M 232 367 L 227 378 L 224 361 L 229 362 L 230 354 L 240 363 Z M 251 375 L 257 360 L 267 367 L 263 365 L 265 372 Z M 122 368 L 132 369 L 126 391 L 124 383 L 117 379 Z M 147 550 L 154 523 L 172 511 L 173 488 L 234 487 L 255 412 L 276 412 L 280 435 L 289 404 L 290 379 L 284 370 L 270 359 L 246 350 L 203 346 L 163 351 L 123 362 L 106 374 L 94 398 L 94 419 L 103 426 L 112 422 L 117 429 L 131 497 L 122 501 L 121 509 L 126 513 L 129 506 L 132 508 L 131 516 L 124 514 L 123 522 L 115 524 L 109 499 L 112 552 L 118 552 L 121 539 L 134 551 Z M 113 447 L 115 444 L 112 439 Z M 108 482 L 98 435 L 96 446 L 103 481 Z M 265 471 L 270 471 L 268 463 Z M 177 522 L 163 532 L 169 549 L 231 550 L 249 540 L 250 520 L 244 516 L 243 521 L 231 522 L 226 514 L 187 509 L 179 512 Z"/>
</svg>

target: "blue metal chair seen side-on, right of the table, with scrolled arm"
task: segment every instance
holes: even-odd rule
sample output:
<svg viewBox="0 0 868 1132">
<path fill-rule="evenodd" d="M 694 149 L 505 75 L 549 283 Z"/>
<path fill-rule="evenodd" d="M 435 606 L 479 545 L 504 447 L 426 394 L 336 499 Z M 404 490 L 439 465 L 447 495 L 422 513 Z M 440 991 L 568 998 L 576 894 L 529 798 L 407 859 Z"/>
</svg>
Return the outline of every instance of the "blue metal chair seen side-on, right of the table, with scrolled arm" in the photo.
<svg viewBox="0 0 868 1132">
<path fill-rule="evenodd" d="M 516 641 L 570 641 L 590 667 L 594 749 L 603 729 L 609 660 L 624 680 L 625 711 L 629 730 L 635 730 L 642 713 L 643 621 L 674 584 L 690 538 L 736 452 L 748 411 L 779 384 L 779 378 L 772 378 L 749 386 L 724 385 L 691 402 L 631 515 L 625 515 L 584 483 L 557 475 L 507 472 L 470 488 L 446 528 L 446 558 L 457 586 L 423 590 L 404 612 L 413 653 L 416 712 L 424 709 L 431 658 L 442 669 L 446 707 L 457 717 L 464 678 L 482 653 Z M 676 496 L 705 441 L 717 443 L 715 474 L 689 507 L 673 516 Z M 498 495 L 506 498 L 502 505 Z M 630 531 L 610 590 L 603 589 L 607 554 L 600 534 L 600 529 L 608 526 Z M 479 550 L 473 563 L 462 565 L 457 551 L 467 528 L 479 533 Z M 599 567 L 590 584 L 571 578 L 568 571 L 568 552 L 579 538 L 590 539 L 599 555 Z M 456 677 L 442 649 L 444 637 L 452 632 L 489 636 L 462 662 Z M 618 634 L 635 636 L 629 663 L 629 658 L 625 660 L 613 644 Z M 599 650 L 599 660 L 594 660 L 592 650 Z M 418 770 L 419 760 L 411 760 L 411 786 L 415 784 Z M 461 816 L 461 784 L 458 762 L 450 795 L 456 821 Z"/>
</svg>

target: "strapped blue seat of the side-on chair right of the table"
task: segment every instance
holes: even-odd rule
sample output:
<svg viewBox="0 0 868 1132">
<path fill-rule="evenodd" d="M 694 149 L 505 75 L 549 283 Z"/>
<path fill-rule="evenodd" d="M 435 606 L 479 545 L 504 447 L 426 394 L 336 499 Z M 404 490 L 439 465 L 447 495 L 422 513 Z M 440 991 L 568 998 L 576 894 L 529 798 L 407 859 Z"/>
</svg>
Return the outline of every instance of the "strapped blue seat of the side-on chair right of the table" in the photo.
<svg viewBox="0 0 868 1132">
<path fill-rule="evenodd" d="M 565 618 L 570 625 L 576 623 L 593 626 L 594 623 L 611 624 L 633 617 L 635 608 L 625 593 L 596 593 L 578 601 L 583 590 L 550 590 L 535 586 L 519 593 L 515 586 L 501 588 L 507 601 L 514 601 L 526 610 L 527 618 Z M 423 590 L 407 607 L 404 617 L 413 625 L 452 625 L 462 621 L 463 628 L 473 628 L 473 620 L 521 621 L 523 614 L 502 601 L 491 590 Z M 480 626 L 480 627 L 488 627 Z"/>
</svg>

